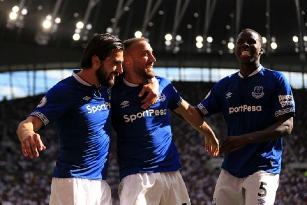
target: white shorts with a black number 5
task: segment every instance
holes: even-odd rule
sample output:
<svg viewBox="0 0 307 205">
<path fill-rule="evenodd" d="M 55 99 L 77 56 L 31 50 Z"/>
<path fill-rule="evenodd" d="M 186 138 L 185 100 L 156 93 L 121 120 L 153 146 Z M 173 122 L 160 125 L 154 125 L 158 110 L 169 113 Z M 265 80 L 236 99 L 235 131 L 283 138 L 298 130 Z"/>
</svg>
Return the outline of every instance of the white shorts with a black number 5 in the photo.
<svg viewBox="0 0 307 205">
<path fill-rule="evenodd" d="M 226 170 L 218 176 L 213 205 L 273 205 L 279 184 L 279 174 L 258 171 L 237 178 Z"/>
</svg>

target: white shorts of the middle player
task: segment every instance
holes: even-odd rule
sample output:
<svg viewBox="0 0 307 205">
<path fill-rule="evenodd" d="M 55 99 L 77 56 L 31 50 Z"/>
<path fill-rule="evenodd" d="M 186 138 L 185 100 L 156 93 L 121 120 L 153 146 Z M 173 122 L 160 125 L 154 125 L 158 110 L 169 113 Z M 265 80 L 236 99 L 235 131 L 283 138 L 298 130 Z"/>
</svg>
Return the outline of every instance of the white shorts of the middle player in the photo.
<svg viewBox="0 0 307 205">
<path fill-rule="evenodd" d="M 121 205 L 190 205 L 190 198 L 179 171 L 131 174 L 118 188 Z"/>
</svg>

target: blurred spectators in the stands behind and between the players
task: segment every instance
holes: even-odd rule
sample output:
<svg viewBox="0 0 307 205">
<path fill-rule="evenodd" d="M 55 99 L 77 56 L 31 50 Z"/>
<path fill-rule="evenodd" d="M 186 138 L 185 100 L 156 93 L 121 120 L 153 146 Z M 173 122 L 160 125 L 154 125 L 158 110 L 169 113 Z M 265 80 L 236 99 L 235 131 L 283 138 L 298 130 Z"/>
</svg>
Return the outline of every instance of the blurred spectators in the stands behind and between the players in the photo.
<svg viewBox="0 0 307 205">
<path fill-rule="evenodd" d="M 205 97 L 212 83 L 173 82 L 181 96 L 191 105 Z M 282 171 L 275 204 L 307 204 L 307 170 L 287 167 L 291 162 L 307 162 L 307 90 L 293 90 L 296 117 L 293 133 L 286 138 L 282 156 Z M 48 204 L 52 172 L 58 155 L 55 129 L 49 126 L 39 134 L 47 149 L 38 158 L 29 159 L 20 151 L 16 128 L 39 103 L 43 95 L 0 102 L 0 204 Z M 222 115 L 206 119 L 216 136 L 227 136 Z M 215 182 L 220 168 L 204 150 L 204 137 L 187 122 L 171 115 L 173 139 L 181 156 L 181 174 L 187 186 L 191 203 L 211 204 Z M 116 136 L 112 136 L 107 182 L 112 189 L 113 204 L 118 205 L 118 166 L 116 161 Z"/>
</svg>

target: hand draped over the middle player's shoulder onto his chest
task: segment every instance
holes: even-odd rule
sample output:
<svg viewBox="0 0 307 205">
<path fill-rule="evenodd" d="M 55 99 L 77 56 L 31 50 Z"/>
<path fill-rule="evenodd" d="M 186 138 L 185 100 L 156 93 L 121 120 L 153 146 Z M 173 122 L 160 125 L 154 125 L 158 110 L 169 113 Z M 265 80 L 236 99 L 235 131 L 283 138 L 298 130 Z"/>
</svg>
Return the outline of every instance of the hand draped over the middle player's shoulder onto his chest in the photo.
<svg viewBox="0 0 307 205">
<path fill-rule="evenodd" d="M 159 83 L 158 80 L 152 80 L 150 83 L 143 86 L 139 97 L 142 97 L 145 93 L 148 93 L 146 98 L 141 101 L 144 110 L 148 107 L 155 105 L 159 96 Z"/>
</svg>

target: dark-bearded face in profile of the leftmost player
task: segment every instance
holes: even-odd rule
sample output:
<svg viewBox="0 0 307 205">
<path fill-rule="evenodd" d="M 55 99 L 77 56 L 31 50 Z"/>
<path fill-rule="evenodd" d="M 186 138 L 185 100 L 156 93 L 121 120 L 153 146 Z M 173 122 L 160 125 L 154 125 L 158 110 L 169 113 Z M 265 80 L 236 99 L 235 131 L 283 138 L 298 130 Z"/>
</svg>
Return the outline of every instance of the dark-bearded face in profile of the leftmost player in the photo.
<svg viewBox="0 0 307 205">
<path fill-rule="evenodd" d="M 114 51 L 101 62 L 100 67 L 96 70 L 96 77 L 99 83 L 106 87 L 114 85 L 115 76 L 123 72 L 123 51 Z"/>
</svg>

